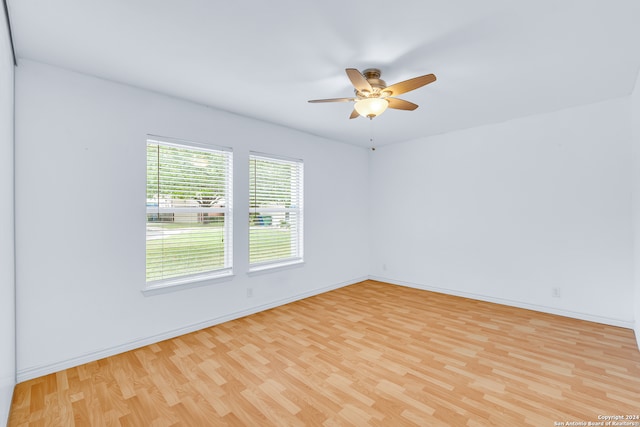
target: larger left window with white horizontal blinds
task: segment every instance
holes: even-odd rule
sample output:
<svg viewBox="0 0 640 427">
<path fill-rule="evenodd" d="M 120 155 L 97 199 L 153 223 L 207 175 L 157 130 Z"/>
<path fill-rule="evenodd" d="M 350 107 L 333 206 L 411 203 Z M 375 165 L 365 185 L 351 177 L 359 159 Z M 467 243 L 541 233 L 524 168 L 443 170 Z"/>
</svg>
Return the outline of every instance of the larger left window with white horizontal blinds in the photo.
<svg viewBox="0 0 640 427">
<path fill-rule="evenodd" d="M 147 140 L 147 287 L 231 274 L 232 153 Z"/>
</svg>

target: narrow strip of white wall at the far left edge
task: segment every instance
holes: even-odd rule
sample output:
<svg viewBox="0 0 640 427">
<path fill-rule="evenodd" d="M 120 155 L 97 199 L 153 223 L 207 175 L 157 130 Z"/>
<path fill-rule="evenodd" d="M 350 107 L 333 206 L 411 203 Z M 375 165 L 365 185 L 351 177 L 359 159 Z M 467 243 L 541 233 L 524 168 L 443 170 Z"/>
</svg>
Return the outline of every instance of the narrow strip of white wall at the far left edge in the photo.
<svg viewBox="0 0 640 427">
<path fill-rule="evenodd" d="M 0 425 L 6 423 L 16 381 L 13 228 L 13 56 L 0 18 Z"/>
</svg>

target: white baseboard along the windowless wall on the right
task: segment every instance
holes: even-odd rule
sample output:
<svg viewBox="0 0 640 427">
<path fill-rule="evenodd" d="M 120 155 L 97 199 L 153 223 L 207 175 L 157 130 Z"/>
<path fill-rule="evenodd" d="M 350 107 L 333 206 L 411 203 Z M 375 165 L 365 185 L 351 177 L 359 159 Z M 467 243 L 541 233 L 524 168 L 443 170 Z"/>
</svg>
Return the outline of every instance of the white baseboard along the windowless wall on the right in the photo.
<svg viewBox="0 0 640 427">
<path fill-rule="evenodd" d="M 504 298 L 496 298 L 488 295 L 461 292 L 453 289 L 445 289 L 445 288 L 439 288 L 436 286 L 405 282 L 402 280 L 394 280 L 394 279 L 389 279 L 387 277 L 369 276 L 369 279 L 377 280 L 385 283 L 391 283 L 392 285 L 406 286 L 408 288 L 422 289 L 425 291 L 432 291 L 432 292 L 437 292 L 441 294 L 455 295 L 459 297 L 475 299 L 478 301 L 493 302 L 496 304 L 508 305 L 511 307 L 518 307 L 518 308 L 525 308 L 533 311 L 539 311 L 542 313 L 557 314 L 559 316 L 571 317 L 571 318 L 580 319 L 580 320 L 587 320 L 589 322 L 602 323 L 605 325 L 619 326 L 621 328 L 633 329 L 635 326 L 634 322 L 623 320 L 623 319 L 595 316 L 593 314 L 588 314 L 588 313 L 580 313 L 580 312 L 571 311 L 571 310 L 562 310 L 555 307 L 529 304 L 521 301 L 513 301 L 513 300 L 504 299 Z M 638 335 L 638 332 L 639 332 L 638 329 L 636 329 L 636 340 L 640 339 L 640 335 Z M 638 342 L 638 345 L 640 346 L 640 341 Z"/>
</svg>

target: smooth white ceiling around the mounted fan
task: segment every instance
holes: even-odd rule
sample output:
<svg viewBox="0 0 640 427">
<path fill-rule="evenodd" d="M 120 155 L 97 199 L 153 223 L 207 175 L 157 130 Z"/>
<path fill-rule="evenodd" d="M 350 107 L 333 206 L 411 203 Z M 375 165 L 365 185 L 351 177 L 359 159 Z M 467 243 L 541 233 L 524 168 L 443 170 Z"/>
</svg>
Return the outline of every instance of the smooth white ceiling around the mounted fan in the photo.
<svg viewBox="0 0 640 427">
<path fill-rule="evenodd" d="M 381 146 L 628 95 L 638 0 L 7 0 L 28 58 Z M 415 111 L 348 120 L 345 68 L 434 73 Z"/>
</svg>

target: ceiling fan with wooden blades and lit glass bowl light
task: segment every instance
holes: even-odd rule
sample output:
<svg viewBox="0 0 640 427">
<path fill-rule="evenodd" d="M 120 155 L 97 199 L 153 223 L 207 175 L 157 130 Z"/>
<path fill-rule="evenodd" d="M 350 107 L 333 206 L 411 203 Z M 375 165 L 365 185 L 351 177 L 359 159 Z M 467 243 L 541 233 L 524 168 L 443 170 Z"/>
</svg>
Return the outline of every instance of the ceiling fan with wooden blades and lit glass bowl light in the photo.
<svg viewBox="0 0 640 427">
<path fill-rule="evenodd" d="M 387 107 L 396 110 L 415 110 L 418 108 L 417 104 L 395 98 L 395 96 L 436 81 L 435 75 L 426 74 L 387 86 L 385 81 L 380 78 L 381 73 L 377 68 L 368 68 L 362 73 L 355 68 L 347 68 L 345 71 L 353 84 L 355 97 L 312 99 L 309 102 L 355 102 L 355 108 L 349 116 L 350 119 L 355 119 L 358 116 L 373 119 L 382 114 Z"/>
</svg>

